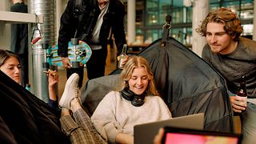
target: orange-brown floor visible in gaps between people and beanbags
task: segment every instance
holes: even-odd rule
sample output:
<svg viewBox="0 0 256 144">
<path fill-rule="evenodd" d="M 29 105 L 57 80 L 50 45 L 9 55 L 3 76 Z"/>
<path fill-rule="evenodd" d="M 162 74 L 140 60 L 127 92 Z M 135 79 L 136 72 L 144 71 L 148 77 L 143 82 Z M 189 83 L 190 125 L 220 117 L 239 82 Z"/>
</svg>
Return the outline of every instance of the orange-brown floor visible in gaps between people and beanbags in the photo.
<svg viewBox="0 0 256 144">
<path fill-rule="evenodd" d="M 116 69 L 116 59 L 115 59 L 116 51 L 113 49 L 110 49 L 108 47 L 108 56 L 106 58 L 106 72 L 105 74 L 110 74 L 113 70 Z M 59 74 L 59 85 L 58 85 L 58 95 L 62 95 L 64 86 L 66 83 L 66 69 L 62 67 L 58 67 L 58 74 Z M 86 70 L 84 74 L 83 83 L 87 81 L 86 77 Z M 240 125 L 240 118 L 238 116 L 234 117 L 234 128 L 235 133 L 240 134 L 241 133 L 241 125 Z"/>
</svg>

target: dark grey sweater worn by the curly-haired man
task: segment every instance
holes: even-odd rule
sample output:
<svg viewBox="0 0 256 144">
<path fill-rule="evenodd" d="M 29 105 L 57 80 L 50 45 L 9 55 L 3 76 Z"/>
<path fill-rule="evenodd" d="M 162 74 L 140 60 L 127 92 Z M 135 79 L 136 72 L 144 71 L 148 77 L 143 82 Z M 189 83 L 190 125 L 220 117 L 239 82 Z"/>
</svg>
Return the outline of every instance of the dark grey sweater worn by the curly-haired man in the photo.
<svg viewBox="0 0 256 144">
<path fill-rule="evenodd" d="M 240 38 L 238 46 L 231 54 L 214 54 L 206 44 L 202 58 L 214 66 L 226 79 L 228 89 L 236 94 L 242 75 L 246 75 L 248 98 L 256 98 L 256 42 Z"/>
</svg>

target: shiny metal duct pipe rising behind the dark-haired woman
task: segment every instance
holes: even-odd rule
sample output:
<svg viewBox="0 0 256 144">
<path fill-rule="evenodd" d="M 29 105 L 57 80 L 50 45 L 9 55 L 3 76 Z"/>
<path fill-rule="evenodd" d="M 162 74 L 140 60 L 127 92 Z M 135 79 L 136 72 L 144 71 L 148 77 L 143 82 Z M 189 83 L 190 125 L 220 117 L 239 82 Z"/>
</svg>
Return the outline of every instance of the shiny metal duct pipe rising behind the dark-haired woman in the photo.
<svg viewBox="0 0 256 144">
<path fill-rule="evenodd" d="M 31 28 L 31 37 L 39 38 L 31 46 L 31 61 L 30 68 L 32 78 L 30 77 L 32 93 L 43 101 L 49 101 L 48 81 L 47 76 L 42 71 L 48 70 L 46 66 L 46 48 L 55 44 L 55 1 L 54 0 L 29 0 L 28 10 L 30 14 L 42 14 L 44 17 L 43 23 L 37 26 L 33 24 Z M 34 31 L 34 34 L 33 34 Z M 40 34 L 40 33 L 41 34 Z"/>
</svg>

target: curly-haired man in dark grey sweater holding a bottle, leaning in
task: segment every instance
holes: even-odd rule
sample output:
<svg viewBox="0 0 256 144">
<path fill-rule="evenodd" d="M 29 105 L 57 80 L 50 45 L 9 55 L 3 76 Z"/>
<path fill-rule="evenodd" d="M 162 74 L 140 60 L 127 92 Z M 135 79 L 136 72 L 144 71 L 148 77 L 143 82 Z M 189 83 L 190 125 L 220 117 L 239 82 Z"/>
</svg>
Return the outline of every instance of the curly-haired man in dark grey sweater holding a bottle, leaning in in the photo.
<svg viewBox="0 0 256 144">
<path fill-rule="evenodd" d="M 196 31 L 207 41 L 202 58 L 222 74 L 231 93 L 237 94 L 246 76 L 247 101 L 235 95 L 230 102 L 234 112 L 241 113 L 242 143 L 256 142 L 256 42 L 240 37 L 241 21 L 226 8 L 210 12 Z"/>
</svg>

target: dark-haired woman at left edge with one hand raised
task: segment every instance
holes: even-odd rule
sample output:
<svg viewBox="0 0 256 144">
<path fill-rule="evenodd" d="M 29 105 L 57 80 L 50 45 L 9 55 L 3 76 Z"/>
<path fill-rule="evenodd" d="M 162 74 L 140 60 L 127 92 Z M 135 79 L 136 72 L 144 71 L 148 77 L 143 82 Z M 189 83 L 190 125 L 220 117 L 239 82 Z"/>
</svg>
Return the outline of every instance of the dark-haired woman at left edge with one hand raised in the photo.
<svg viewBox="0 0 256 144">
<path fill-rule="evenodd" d="M 0 50 L 0 70 L 8 77 L 12 78 L 15 82 L 21 85 L 21 62 L 17 54 L 9 50 Z M 55 110 L 58 110 L 58 97 L 55 91 L 55 85 L 58 82 L 58 73 L 49 70 L 48 75 L 48 88 L 49 88 L 49 103 L 48 105 Z"/>
</svg>

